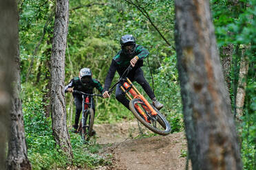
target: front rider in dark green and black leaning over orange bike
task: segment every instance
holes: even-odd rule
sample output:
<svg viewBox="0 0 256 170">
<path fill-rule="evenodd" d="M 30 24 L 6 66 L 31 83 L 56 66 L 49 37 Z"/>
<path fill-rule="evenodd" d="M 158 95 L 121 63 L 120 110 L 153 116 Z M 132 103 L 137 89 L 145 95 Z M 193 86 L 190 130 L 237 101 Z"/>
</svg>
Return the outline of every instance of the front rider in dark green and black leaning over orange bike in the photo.
<svg viewBox="0 0 256 170">
<path fill-rule="evenodd" d="M 108 90 L 116 71 L 118 71 L 118 74 L 121 76 L 122 73 L 124 73 L 129 66 L 129 64 L 131 64 L 131 66 L 133 66 L 133 69 L 129 72 L 127 77 L 129 77 L 129 80 L 131 80 L 131 82 L 138 82 L 138 84 L 142 86 L 147 95 L 149 95 L 150 99 L 153 101 L 153 106 L 160 110 L 163 107 L 163 104 L 160 104 L 160 102 L 156 99 L 153 90 L 149 86 L 147 80 L 145 80 L 143 71 L 140 68 L 140 66 L 143 65 L 143 59 L 149 56 L 149 51 L 141 45 L 136 45 L 136 40 L 134 36 L 130 34 L 127 34 L 120 38 L 120 45 L 122 49 L 116 54 L 116 56 L 114 56 L 109 67 L 107 77 L 105 79 L 103 97 L 109 97 Z M 122 82 L 120 82 L 116 86 L 116 99 L 129 109 L 129 100 L 125 97 L 125 93 L 122 92 L 120 88 L 121 85 Z"/>
</svg>

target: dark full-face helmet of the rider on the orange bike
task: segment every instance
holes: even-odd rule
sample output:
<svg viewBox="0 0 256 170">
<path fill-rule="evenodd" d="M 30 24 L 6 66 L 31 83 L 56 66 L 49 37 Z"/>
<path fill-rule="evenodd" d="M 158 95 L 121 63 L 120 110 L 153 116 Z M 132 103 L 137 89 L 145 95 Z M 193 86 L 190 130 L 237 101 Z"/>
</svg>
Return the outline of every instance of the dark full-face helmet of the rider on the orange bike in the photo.
<svg viewBox="0 0 256 170">
<path fill-rule="evenodd" d="M 122 47 L 122 51 L 124 51 L 125 54 L 131 56 L 134 53 L 136 47 L 136 41 L 134 36 L 132 36 L 131 34 L 122 36 L 120 38 L 120 45 Z"/>
</svg>

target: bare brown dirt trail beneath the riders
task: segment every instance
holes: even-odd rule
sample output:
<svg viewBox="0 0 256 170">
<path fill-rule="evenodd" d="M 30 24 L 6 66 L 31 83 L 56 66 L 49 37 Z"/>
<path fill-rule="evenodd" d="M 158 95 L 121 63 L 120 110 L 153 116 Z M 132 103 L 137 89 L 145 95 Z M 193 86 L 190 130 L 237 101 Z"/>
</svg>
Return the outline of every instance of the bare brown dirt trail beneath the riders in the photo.
<svg viewBox="0 0 256 170">
<path fill-rule="evenodd" d="M 97 167 L 97 170 L 184 170 L 186 167 L 184 132 L 138 138 L 137 121 L 94 125 L 94 129 L 97 132 L 96 143 L 103 145 L 99 154 L 111 162 L 111 165 Z M 146 136 L 151 134 L 145 127 L 142 127 L 142 132 Z"/>
</svg>

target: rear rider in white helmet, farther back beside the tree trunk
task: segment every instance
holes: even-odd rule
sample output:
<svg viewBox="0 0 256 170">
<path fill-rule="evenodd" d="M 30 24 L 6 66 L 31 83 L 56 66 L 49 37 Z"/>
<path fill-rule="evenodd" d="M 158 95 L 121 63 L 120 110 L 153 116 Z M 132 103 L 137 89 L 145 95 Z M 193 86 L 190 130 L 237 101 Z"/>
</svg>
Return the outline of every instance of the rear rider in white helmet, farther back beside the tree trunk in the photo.
<svg viewBox="0 0 256 170">
<path fill-rule="evenodd" d="M 92 78 L 92 71 L 88 68 L 83 68 L 79 72 L 78 77 L 74 77 L 67 86 L 65 86 L 65 93 L 70 92 L 74 97 L 74 103 L 76 105 L 76 117 L 73 125 L 73 132 L 77 132 L 79 117 L 82 111 L 82 95 L 73 93 L 73 90 L 79 90 L 83 93 L 93 93 L 93 89 L 97 88 L 100 93 L 103 93 L 103 87 L 98 80 Z M 92 101 L 92 109 L 95 114 L 94 101 Z M 95 131 L 94 131 L 95 132 Z"/>
</svg>

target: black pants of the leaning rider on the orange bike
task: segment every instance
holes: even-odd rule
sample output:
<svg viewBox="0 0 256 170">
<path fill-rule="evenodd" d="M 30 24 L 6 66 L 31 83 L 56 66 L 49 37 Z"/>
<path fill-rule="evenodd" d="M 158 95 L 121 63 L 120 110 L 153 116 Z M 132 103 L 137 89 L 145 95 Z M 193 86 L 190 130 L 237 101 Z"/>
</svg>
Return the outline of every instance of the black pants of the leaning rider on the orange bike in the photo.
<svg viewBox="0 0 256 170">
<path fill-rule="evenodd" d="M 147 82 L 147 80 L 145 80 L 142 69 L 138 68 L 135 71 L 132 71 L 131 73 L 129 73 L 127 77 L 129 77 L 129 80 L 131 80 L 131 82 L 134 82 L 134 81 L 138 82 L 138 84 L 142 86 L 143 90 L 145 90 L 147 95 L 149 95 L 150 99 L 155 98 L 155 95 L 153 94 L 153 90 L 149 86 L 149 83 Z M 126 108 L 129 109 L 129 100 L 125 97 L 125 93 L 120 88 L 122 84 L 123 82 L 120 82 L 116 86 L 116 99 L 120 101 L 120 103 L 123 104 Z"/>
</svg>

